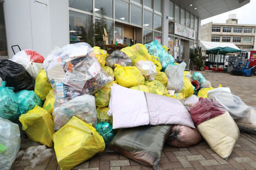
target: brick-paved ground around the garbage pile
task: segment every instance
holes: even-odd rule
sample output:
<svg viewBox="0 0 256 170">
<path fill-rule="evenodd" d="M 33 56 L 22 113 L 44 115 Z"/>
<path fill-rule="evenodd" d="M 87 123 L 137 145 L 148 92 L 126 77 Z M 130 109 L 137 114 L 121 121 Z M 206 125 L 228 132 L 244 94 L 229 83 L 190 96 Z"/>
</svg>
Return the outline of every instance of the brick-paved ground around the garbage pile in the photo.
<svg viewBox="0 0 256 170">
<path fill-rule="evenodd" d="M 193 72 L 192 72 L 193 73 Z M 229 87 L 234 95 L 238 95 L 247 104 L 256 107 L 256 75 L 252 77 L 232 76 L 228 73 L 213 73 L 212 71 L 200 71 L 212 83 L 213 87 Z M 39 145 L 22 137 L 20 150 Z M 17 158 L 12 169 L 28 170 L 31 163 Z M 33 169 L 60 169 L 56 156 L 51 156 L 44 162 L 36 165 Z M 77 165 L 73 169 L 152 169 L 141 165 L 125 156 L 115 152 L 102 152 L 93 156 L 86 162 Z M 228 160 L 220 158 L 205 141 L 191 147 L 178 148 L 165 145 L 160 160 L 159 169 L 256 169 L 256 135 L 241 133 L 233 152 Z"/>
</svg>

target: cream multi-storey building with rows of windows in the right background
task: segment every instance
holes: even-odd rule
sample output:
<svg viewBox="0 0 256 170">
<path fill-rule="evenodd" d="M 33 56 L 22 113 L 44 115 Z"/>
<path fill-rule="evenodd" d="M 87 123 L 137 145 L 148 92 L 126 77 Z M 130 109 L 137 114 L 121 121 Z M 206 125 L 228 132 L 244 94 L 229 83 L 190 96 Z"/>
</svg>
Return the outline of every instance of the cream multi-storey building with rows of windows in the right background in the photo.
<svg viewBox="0 0 256 170">
<path fill-rule="evenodd" d="M 238 24 L 236 14 L 230 14 L 226 23 L 207 23 L 201 25 L 202 41 L 232 42 L 240 49 L 253 49 L 255 25 Z"/>
</svg>

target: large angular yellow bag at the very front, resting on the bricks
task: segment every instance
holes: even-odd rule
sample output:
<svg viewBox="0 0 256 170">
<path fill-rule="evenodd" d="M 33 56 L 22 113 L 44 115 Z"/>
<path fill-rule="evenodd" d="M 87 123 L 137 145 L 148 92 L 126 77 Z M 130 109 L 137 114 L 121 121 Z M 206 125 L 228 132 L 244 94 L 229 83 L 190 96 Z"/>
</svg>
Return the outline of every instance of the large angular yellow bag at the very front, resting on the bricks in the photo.
<svg viewBox="0 0 256 170">
<path fill-rule="evenodd" d="M 92 158 L 105 149 L 104 139 L 93 128 L 76 116 L 52 136 L 57 162 L 63 170 Z"/>
</svg>

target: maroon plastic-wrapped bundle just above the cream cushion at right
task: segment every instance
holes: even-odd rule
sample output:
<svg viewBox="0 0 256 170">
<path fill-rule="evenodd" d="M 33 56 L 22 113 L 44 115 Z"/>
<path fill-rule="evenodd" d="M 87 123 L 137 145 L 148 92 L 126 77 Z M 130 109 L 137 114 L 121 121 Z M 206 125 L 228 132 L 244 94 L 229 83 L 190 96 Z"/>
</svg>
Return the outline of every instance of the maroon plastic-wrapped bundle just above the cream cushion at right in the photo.
<svg viewBox="0 0 256 170">
<path fill-rule="evenodd" d="M 226 109 L 220 103 L 204 97 L 200 97 L 199 102 L 189 109 L 189 113 L 196 126 L 225 112 Z"/>
</svg>

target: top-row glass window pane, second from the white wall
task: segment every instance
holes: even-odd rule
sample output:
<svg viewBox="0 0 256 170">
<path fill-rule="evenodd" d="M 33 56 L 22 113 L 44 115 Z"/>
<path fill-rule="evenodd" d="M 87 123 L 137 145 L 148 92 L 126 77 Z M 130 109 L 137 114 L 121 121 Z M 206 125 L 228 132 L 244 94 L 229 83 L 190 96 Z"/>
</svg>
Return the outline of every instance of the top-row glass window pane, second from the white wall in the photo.
<svg viewBox="0 0 256 170">
<path fill-rule="evenodd" d="M 101 10 L 102 8 L 102 10 Z M 113 18 L 113 0 L 97 0 L 95 1 L 94 12 L 97 14 L 104 14 L 109 18 Z"/>
</svg>

